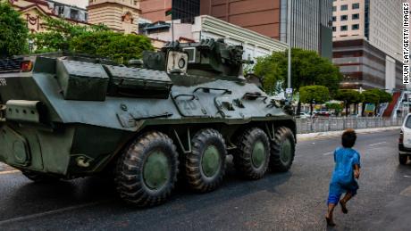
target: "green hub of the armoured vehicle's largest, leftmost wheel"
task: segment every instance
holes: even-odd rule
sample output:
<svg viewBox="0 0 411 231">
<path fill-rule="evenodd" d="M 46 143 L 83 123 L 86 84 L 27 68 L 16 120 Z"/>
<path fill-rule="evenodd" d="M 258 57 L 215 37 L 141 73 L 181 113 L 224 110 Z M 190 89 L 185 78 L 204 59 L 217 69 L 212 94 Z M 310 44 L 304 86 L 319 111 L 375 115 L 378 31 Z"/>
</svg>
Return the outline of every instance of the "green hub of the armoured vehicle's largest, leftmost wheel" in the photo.
<svg viewBox="0 0 411 231">
<path fill-rule="evenodd" d="M 159 189 L 170 178 L 170 164 L 165 153 L 155 151 L 147 156 L 143 167 L 144 183 L 150 189 Z"/>
</svg>

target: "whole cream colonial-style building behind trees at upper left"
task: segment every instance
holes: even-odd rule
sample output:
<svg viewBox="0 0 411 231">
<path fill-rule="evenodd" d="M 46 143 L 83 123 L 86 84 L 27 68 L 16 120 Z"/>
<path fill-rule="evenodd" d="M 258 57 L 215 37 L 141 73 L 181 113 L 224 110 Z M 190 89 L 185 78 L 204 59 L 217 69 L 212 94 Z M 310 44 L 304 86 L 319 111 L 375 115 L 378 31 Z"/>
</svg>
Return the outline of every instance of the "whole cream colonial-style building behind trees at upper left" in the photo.
<svg viewBox="0 0 411 231">
<path fill-rule="evenodd" d="M 138 0 L 89 0 L 88 9 L 52 0 L 8 0 L 21 12 L 32 33 L 46 31 L 42 16 L 61 18 L 80 25 L 105 24 L 123 33 L 138 33 Z"/>
</svg>

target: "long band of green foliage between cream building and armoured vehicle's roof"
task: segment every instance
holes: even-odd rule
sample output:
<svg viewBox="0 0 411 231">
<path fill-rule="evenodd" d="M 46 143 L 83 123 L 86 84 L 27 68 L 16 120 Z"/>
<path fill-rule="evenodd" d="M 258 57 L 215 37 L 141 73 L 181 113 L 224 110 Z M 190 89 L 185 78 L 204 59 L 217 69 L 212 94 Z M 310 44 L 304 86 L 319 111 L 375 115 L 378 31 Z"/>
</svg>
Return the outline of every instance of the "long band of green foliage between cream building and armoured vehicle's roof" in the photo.
<svg viewBox="0 0 411 231">
<path fill-rule="evenodd" d="M 141 58 L 145 50 L 154 50 L 147 37 L 113 32 L 104 25 L 82 26 L 47 17 L 45 26 L 47 32 L 32 36 L 37 53 L 69 51 L 127 63 L 130 59 Z"/>
</svg>

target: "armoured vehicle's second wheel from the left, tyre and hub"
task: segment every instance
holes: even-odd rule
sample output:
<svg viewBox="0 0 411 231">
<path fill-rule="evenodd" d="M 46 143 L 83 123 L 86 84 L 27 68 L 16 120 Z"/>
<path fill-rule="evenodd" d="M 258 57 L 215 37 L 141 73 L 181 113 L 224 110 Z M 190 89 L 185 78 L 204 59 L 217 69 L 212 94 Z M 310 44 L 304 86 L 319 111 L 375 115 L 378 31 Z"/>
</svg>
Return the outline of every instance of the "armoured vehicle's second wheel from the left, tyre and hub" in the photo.
<svg viewBox="0 0 411 231">
<path fill-rule="evenodd" d="M 214 129 L 203 129 L 191 140 L 192 152 L 186 156 L 186 177 L 197 192 L 209 192 L 222 183 L 225 174 L 225 143 Z"/>
</svg>

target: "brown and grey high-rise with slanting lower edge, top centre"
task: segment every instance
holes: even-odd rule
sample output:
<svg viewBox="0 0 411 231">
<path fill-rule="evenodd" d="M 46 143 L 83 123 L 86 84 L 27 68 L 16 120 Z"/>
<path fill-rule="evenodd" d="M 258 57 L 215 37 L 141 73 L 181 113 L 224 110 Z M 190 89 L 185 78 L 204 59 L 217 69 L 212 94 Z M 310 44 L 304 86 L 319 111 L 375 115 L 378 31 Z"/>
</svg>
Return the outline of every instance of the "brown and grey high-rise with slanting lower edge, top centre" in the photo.
<svg viewBox="0 0 411 231">
<path fill-rule="evenodd" d="M 331 58 L 332 0 L 203 0 L 200 13 Z"/>
</svg>

